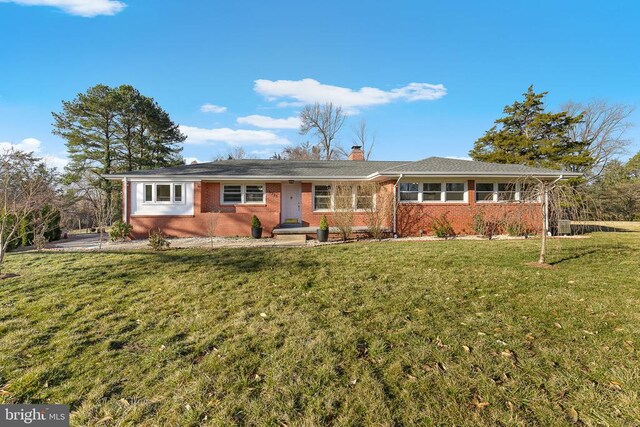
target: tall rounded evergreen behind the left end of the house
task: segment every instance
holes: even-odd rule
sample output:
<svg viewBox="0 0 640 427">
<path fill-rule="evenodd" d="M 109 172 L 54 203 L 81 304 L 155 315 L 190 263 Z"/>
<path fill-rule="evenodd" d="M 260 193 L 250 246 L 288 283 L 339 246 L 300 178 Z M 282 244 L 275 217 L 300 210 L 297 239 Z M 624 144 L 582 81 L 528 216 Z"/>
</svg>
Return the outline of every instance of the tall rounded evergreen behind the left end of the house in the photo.
<svg viewBox="0 0 640 427">
<path fill-rule="evenodd" d="M 67 182 L 87 171 L 109 174 L 182 164 L 183 135 L 152 98 L 129 85 L 96 85 L 53 113 L 53 133 L 66 139 Z M 110 189 L 101 181 L 100 187 Z"/>
</svg>

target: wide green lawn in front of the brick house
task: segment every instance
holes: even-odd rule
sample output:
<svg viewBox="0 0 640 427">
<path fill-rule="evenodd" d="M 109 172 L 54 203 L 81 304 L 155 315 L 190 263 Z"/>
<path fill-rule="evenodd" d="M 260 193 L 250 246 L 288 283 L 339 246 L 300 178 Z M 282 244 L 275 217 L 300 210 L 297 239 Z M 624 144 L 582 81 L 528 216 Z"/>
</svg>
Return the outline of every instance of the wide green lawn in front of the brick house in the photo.
<svg viewBox="0 0 640 427">
<path fill-rule="evenodd" d="M 21 253 L 0 403 L 74 425 L 640 424 L 640 233 Z M 577 420 L 576 420 L 577 418 Z"/>
</svg>

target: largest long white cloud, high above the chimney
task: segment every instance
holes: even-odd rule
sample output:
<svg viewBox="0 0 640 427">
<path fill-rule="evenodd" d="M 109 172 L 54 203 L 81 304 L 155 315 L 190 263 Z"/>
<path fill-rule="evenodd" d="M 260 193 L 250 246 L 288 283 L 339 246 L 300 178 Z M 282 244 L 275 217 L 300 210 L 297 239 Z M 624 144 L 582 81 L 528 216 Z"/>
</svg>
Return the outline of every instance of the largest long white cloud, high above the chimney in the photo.
<svg viewBox="0 0 640 427">
<path fill-rule="evenodd" d="M 256 80 L 254 90 L 269 101 L 279 101 L 280 107 L 300 106 L 316 102 L 333 102 L 345 110 L 356 112 L 358 108 L 388 104 L 393 101 L 432 101 L 447 94 L 442 84 L 409 83 L 397 89 L 385 91 L 375 87 L 353 90 L 346 87 L 322 84 L 314 79 Z"/>
</svg>

